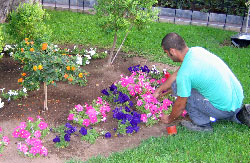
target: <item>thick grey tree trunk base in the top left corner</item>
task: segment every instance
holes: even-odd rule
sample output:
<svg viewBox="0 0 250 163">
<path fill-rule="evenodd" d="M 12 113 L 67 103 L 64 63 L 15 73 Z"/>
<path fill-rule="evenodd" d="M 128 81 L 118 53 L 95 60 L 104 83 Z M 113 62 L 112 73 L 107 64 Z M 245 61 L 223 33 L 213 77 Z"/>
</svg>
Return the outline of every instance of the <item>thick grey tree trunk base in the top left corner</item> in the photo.
<svg viewBox="0 0 250 163">
<path fill-rule="evenodd" d="M 41 0 L 0 0 L 0 23 L 4 23 L 8 14 L 15 10 L 20 3 L 41 2 Z"/>
</svg>

